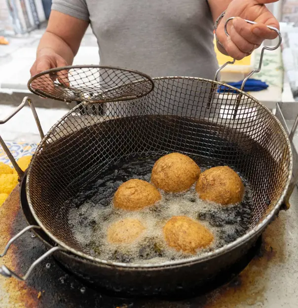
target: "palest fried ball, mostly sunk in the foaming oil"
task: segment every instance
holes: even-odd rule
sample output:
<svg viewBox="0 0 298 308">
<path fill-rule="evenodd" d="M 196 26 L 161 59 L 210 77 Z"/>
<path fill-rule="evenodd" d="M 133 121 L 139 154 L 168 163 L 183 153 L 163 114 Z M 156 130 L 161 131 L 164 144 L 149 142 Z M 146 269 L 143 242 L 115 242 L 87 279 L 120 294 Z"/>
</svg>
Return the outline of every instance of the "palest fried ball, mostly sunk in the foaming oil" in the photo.
<svg viewBox="0 0 298 308">
<path fill-rule="evenodd" d="M 113 223 L 108 229 L 108 241 L 112 244 L 131 244 L 146 230 L 135 218 L 125 218 Z"/>
</svg>

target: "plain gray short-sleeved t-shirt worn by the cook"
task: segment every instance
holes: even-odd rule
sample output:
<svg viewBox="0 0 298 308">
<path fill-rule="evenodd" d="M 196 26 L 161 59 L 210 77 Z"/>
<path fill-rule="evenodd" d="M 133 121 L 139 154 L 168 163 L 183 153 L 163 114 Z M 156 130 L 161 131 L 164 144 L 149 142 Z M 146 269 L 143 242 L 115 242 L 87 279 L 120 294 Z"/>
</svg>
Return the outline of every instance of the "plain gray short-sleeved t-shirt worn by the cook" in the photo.
<svg viewBox="0 0 298 308">
<path fill-rule="evenodd" d="M 53 0 L 52 9 L 90 21 L 101 65 L 209 79 L 218 68 L 207 0 Z"/>
</svg>

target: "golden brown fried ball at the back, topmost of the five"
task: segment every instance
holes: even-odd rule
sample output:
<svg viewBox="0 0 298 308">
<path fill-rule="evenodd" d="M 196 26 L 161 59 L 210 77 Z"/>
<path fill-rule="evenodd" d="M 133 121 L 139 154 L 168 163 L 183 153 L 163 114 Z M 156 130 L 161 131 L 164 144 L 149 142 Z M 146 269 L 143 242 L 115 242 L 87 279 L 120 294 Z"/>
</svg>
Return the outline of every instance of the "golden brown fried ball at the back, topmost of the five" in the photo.
<svg viewBox="0 0 298 308">
<path fill-rule="evenodd" d="M 171 153 L 155 162 L 151 182 L 164 192 L 185 192 L 197 181 L 200 172 L 190 157 Z"/>
</svg>

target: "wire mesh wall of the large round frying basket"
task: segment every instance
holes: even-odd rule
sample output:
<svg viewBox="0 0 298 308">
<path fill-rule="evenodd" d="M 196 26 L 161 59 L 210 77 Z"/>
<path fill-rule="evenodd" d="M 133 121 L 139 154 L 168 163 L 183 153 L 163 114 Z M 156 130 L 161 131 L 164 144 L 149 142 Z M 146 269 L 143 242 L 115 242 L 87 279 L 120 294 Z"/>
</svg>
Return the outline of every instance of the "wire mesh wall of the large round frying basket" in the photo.
<svg viewBox="0 0 298 308">
<path fill-rule="evenodd" d="M 235 89 L 227 85 L 224 93 L 211 90 L 220 82 L 164 77 L 154 83 L 146 96 L 104 103 L 105 116 L 88 109 L 82 114 L 85 107 L 77 106 L 37 148 L 27 181 L 31 210 L 58 244 L 77 255 L 94 260 L 74 238 L 65 201 L 125 157 L 180 152 L 233 166 L 253 187 L 249 231 L 255 236 L 282 201 L 291 176 L 291 148 L 269 110 L 242 92 L 235 114 L 240 91 L 230 92 Z"/>
</svg>

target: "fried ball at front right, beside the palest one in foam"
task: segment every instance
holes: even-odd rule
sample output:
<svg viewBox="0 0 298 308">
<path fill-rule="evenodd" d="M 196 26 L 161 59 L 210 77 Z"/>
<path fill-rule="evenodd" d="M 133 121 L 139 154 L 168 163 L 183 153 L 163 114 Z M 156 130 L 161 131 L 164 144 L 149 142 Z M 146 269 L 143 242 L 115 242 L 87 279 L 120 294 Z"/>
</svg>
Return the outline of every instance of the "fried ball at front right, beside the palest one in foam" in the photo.
<svg viewBox="0 0 298 308">
<path fill-rule="evenodd" d="M 209 246 L 214 239 L 206 227 L 187 216 L 173 216 L 163 227 L 163 235 L 170 247 L 190 254 Z"/>
</svg>

